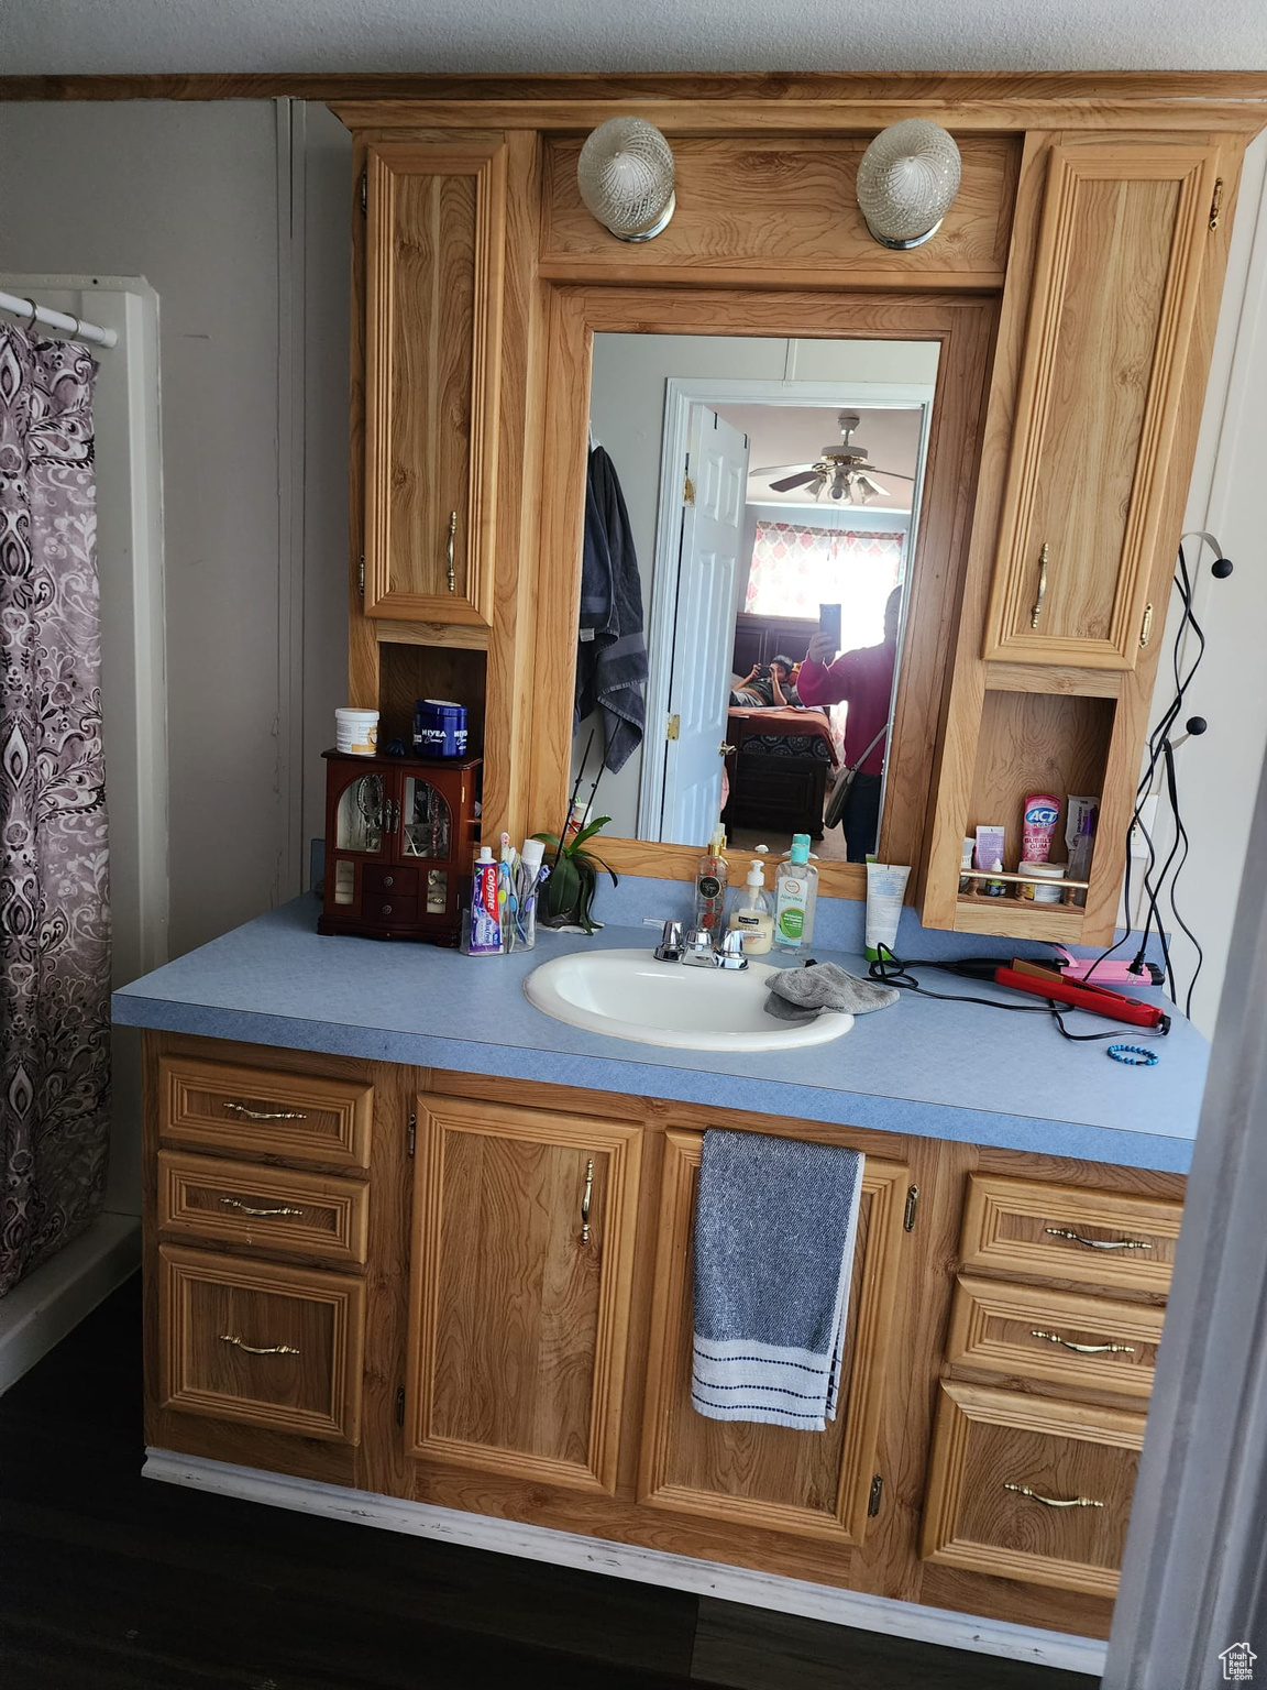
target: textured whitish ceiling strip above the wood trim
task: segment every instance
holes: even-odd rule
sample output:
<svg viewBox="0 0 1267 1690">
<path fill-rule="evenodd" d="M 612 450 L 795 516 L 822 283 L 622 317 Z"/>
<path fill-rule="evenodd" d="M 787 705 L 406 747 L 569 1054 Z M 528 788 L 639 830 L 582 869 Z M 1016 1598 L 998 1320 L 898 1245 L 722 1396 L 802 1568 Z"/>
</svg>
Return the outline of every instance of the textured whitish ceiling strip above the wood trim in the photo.
<svg viewBox="0 0 1267 1690">
<path fill-rule="evenodd" d="M 0 71 L 1267 69 L 1265 0 L 0 0 Z"/>
</svg>

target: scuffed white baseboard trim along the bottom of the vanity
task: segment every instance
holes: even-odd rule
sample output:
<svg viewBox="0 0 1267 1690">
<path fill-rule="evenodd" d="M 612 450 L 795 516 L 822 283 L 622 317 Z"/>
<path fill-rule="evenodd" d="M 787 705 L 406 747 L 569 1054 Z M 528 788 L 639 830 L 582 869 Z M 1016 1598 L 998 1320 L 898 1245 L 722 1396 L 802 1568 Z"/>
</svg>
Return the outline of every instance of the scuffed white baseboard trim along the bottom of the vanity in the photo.
<svg viewBox="0 0 1267 1690">
<path fill-rule="evenodd" d="M 228 1462 L 213 1462 L 201 1455 L 177 1455 L 172 1450 L 145 1450 L 144 1472 L 147 1479 L 188 1486 L 193 1491 L 211 1491 L 247 1502 L 267 1502 L 272 1507 L 323 1514 L 328 1519 L 350 1519 L 362 1526 L 404 1531 L 416 1538 L 443 1538 L 448 1543 L 492 1550 L 497 1555 L 520 1555 L 530 1562 L 579 1567 L 593 1573 L 610 1573 L 615 1578 L 634 1578 L 639 1584 L 689 1590 L 696 1595 L 720 1597 L 725 1602 L 745 1602 L 750 1607 L 801 1614 L 806 1619 L 824 1619 L 836 1626 L 856 1626 L 862 1631 L 911 1638 L 917 1643 L 939 1643 L 951 1649 L 998 1655 L 1012 1661 L 1090 1673 L 1095 1678 L 1105 1670 L 1105 1644 L 1095 1638 L 1074 1638 L 1059 1631 L 1039 1631 L 1034 1626 L 1014 1626 L 1003 1619 L 978 1619 L 971 1614 L 954 1614 L 949 1609 L 921 1607 L 916 1602 L 897 1602 L 889 1597 L 863 1595 L 856 1590 L 836 1590 L 829 1585 L 808 1584 L 802 1578 L 780 1578 L 747 1567 L 725 1567 L 720 1562 L 696 1562 L 666 1550 L 608 1543 L 603 1538 L 583 1538 L 547 1526 L 524 1526 L 519 1521 L 493 1519 L 488 1514 L 463 1514 L 458 1509 L 434 1507 L 429 1502 L 373 1496 L 370 1491 L 345 1491 L 341 1486 L 321 1484 L 314 1479 L 292 1479 L 287 1474 L 269 1474 L 255 1467 L 233 1467 Z"/>
</svg>

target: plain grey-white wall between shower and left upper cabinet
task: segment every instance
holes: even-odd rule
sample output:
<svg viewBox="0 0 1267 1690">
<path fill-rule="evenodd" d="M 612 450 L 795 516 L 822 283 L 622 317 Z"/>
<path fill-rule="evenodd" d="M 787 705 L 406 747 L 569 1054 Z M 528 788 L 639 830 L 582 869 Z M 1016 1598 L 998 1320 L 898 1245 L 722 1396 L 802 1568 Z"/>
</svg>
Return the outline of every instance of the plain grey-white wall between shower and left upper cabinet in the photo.
<svg viewBox="0 0 1267 1690">
<path fill-rule="evenodd" d="M 0 106 L 5 267 L 160 299 L 172 955 L 299 889 L 345 688 L 348 137 L 307 137 L 267 100 Z"/>
</svg>

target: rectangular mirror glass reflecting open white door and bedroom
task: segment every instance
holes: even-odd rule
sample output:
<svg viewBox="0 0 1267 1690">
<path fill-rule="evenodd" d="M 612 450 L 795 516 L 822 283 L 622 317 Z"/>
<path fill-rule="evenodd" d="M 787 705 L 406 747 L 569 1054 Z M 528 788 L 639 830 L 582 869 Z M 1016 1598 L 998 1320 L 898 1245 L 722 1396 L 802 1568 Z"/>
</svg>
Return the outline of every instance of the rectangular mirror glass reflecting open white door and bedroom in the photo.
<svg viewBox="0 0 1267 1690">
<path fill-rule="evenodd" d="M 595 333 L 573 782 L 610 837 L 875 850 L 939 353 Z M 623 600 L 598 673 L 595 576 Z"/>
</svg>

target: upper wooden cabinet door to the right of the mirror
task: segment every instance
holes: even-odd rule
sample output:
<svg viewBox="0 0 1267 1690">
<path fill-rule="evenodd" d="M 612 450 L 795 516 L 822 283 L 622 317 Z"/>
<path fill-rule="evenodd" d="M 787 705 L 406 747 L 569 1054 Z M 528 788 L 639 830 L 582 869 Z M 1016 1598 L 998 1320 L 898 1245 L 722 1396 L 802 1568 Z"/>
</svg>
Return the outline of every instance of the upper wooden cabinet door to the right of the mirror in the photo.
<svg viewBox="0 0 1267 1690">
<path fill-rule="evenodd" d="M 1210 240 L 1208 135 L 1051 149 L 985 657 L 1130 669 Z M 1169 566 L 1166 568 L 1169 580 Z"/>
</svg>

